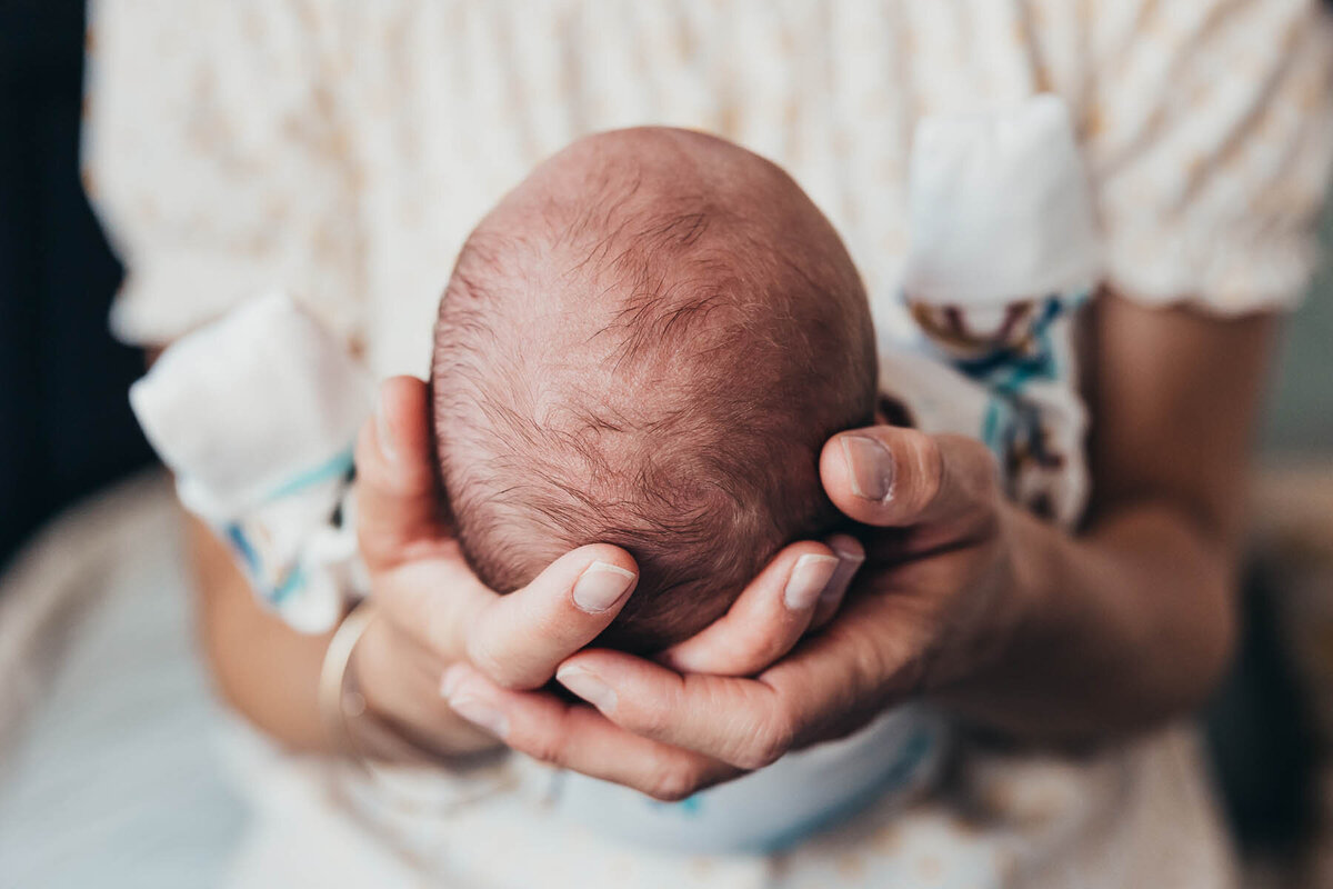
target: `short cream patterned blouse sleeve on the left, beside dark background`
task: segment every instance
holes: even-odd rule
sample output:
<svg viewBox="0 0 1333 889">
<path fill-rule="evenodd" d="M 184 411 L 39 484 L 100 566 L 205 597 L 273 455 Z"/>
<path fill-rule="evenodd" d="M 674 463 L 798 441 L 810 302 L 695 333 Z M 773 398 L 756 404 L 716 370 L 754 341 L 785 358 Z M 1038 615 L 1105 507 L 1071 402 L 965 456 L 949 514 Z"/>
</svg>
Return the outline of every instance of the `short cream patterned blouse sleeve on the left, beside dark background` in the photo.
<svg viewBox="0 0 1333 889">
<path fill-rule="evenodd" d="M 321 12 L 324 11 L 324 12 Z M 84 184 L 125 281 L 113 332 L 165 344 L 271 288 L 361 324 L 357 165 L 324 5 L 97 0 Z"/>
</svg>

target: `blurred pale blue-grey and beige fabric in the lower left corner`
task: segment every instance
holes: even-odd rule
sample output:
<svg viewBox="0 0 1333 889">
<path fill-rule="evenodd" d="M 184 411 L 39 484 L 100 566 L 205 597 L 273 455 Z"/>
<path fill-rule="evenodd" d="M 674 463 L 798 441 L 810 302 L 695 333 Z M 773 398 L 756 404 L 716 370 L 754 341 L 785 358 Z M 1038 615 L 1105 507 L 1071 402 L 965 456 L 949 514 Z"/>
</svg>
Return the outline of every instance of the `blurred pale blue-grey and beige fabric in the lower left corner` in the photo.
<svg viewBox="0 0 1333 889">
<path fill-rule="evenodd" d="M 209 886 L 245 822 L 160 473 L 59 518 L 0 577 L 0 886 Z"/>
</svg>

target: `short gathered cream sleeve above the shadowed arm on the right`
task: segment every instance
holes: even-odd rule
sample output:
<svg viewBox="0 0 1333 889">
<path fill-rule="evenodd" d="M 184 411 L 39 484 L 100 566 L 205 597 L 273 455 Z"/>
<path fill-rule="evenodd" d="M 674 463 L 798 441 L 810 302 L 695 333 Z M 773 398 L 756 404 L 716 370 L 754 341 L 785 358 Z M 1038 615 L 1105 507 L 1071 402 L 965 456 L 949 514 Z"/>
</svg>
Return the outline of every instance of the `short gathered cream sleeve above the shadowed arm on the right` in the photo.
<svg viewBox="0 0 1333 889">
<path fill-rule="evenodd" d="M 1100 0 L 1085 136 L 1112 287 L 1293 307 L 1333 167 L 1333 25 L 1314 0 Z"/>
</svg>

